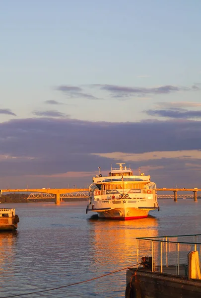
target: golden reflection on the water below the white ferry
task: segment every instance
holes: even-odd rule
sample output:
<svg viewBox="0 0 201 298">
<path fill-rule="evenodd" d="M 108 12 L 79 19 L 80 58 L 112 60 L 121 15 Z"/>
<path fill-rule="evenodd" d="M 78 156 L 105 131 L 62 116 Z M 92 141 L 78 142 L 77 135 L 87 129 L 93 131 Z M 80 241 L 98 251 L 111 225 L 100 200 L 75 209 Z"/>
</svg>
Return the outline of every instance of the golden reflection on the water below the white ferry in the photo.
<svg viewBox="0 0 201 298">
<path fill-rule="evenodd" d="M 136 263 L 136 237 L 158 236 L 158 220 L 152 216 L 132 221 L 93 220 L 91 241 L 94 263 L 116 269 Z M 105 254 L 103 253 L 105 252 Z M 123 265 L 124 264 L 124 265 Z"/>
</svg>

